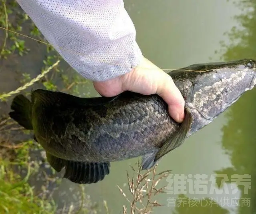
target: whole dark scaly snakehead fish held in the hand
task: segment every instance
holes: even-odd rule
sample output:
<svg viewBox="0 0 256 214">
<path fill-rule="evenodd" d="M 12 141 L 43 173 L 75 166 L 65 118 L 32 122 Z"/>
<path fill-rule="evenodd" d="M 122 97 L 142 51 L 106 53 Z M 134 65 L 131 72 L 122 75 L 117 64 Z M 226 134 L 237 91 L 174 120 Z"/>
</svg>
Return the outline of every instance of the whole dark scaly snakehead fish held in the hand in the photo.
<svg viewBox="0 0 256 214">
<path fill-rule="evenodd" d="M 142 170 L 183 144 L 256 85 L 256 61 L 192 64 L 168 73 L 185 100 L 177 123 L 157 94 L 125 91 L 115 97 L 83 98 L 36 89 L 31 100 L 14 97 L 9 116 L 46 151 L 63 178 L 92 184 L 110 173 L 110 162 L 141 157 Z"/>
</svg>

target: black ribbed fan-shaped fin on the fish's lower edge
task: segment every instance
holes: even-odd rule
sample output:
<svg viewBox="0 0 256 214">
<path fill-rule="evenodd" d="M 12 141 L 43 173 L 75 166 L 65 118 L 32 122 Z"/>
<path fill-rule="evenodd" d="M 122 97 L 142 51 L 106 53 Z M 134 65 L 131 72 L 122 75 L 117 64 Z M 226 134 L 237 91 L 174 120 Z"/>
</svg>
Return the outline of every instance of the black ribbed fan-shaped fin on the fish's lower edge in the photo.
<svg viewBox="0 0 256 214">
<path fill-rule="evenodd" d="M 64 178 L 78 184 L 91 184 L 103 180 L 109 174 L 108 163 L 66 161 Z"/>
</svg>

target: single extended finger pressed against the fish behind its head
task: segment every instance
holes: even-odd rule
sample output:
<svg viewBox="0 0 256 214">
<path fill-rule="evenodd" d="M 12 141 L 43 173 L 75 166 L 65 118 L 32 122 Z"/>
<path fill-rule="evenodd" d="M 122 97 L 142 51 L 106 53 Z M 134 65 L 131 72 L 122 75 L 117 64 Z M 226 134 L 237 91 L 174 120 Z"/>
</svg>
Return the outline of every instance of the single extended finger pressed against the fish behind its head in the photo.
<svg viewBox="0 0 256 214">
<path fill-rule="evenodd" d="M 157 94 L 168 104 L 170 116 L 177 122 L 182 122 L 184 119 L 184 98 L 168 74 L 164 72 L 161 79 L 164 82 L 158 85 Z"/>
</svg>

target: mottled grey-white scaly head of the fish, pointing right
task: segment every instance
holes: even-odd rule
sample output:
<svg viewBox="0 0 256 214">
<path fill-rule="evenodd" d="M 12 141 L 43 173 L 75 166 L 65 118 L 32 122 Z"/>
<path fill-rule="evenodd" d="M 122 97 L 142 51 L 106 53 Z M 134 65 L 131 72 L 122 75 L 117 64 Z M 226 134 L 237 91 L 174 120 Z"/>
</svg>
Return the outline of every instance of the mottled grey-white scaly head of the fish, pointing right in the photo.
<svg viewBox="0 0 256 214">
<path fill-rule="evenodd" d="M 206 126 L 256 85 L 256 61 L 236 60 L 209 64 L 206 72 L 188 72 L 177 80 L 192 114 L 191 132 Z M 179 81 L 179 82 L 178 82 Z"/>
</svg>

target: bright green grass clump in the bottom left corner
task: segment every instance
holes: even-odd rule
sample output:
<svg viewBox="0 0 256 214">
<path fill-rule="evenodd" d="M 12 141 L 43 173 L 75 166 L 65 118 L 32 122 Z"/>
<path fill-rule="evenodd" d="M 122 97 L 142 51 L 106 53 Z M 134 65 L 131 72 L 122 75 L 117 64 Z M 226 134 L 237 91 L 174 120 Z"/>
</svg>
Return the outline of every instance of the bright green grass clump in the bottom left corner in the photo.
<svg viewBox="0 0 256 214">
<path fill-rule="evenodd" d="M 34 196 L 33 190 L 28 184 L 30 166 L 27 166 L 28 174 L 25 178 L 9 170 L 10 166 L 4 160 L 0 166 L 0 213 L 45 213 L 56 211 L 51 200 L 41 200 Z"/>
</svg>

